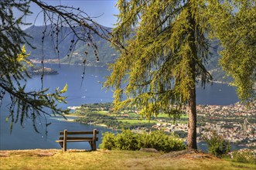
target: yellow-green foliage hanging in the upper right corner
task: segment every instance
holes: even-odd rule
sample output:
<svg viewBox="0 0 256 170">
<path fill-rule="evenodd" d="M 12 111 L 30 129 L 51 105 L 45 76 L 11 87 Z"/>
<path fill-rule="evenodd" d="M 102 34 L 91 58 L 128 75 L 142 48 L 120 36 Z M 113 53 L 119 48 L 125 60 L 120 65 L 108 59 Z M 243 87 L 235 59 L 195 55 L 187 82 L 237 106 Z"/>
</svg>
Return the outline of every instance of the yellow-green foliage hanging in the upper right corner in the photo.
<svg viewBox="0 0 256 170">
<path fill-rule="evenodd" d="M 234 0 L 209 2 L 210 36 L 220 39 L 220 65 L 234 77 L 233 85 L 242 101 L 255 100 L 256 2 Z"/>
</svg>

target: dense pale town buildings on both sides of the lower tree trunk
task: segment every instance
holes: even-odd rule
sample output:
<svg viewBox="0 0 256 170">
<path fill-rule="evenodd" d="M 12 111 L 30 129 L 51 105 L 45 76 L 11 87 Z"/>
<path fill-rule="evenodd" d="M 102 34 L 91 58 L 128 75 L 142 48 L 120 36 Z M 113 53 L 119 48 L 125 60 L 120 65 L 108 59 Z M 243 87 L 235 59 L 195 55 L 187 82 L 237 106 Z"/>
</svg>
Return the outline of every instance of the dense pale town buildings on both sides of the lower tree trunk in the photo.
<svg viewBox="0 0 256 170">
<path fill-rule="evenodd" d="M 199 105 L 197 115 L 203 125 L 196 128 L 198 140 L 210 138 L 211 131 L 217 131 L 227 141 L 247 146 L 256 146 L 256 107 L 242 104 L 230 106 Z M 201 122 L 202 123 L 202 122 Z M 187 124 L 172 124 L 159 120 L 152 128 L 164 131 L 188 131 Z"/>
</svg>

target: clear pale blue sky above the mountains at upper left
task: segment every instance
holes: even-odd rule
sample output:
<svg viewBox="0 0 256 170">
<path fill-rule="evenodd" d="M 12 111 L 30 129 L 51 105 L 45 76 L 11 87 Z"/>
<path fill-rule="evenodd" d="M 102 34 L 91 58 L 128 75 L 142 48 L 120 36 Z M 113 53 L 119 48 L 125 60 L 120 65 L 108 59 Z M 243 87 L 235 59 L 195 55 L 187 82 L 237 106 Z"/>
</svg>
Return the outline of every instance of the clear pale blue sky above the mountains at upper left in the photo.
<svg viewBox="0 0 256 170">
<path fill-rule="evenodd" d="M 95 19 L 96 22 L 103 26 L 113 27 L 117 18 L 114 14 L 118 14 L 118 8 L 114 7 L 117 0 L 43 0 L 48 5 L 69 5 L 75 8 L 83 9 L 88 15 L 99 18 Z M 31 2 L 31 11 L 33 14 L 26 17 L 26 22 L 34 23 L 36 15 L 41 9 L 34 3 Z M 43 25 L 43 15 L 39 15 L 35 22 L 36 26 Z"/>
</svg>

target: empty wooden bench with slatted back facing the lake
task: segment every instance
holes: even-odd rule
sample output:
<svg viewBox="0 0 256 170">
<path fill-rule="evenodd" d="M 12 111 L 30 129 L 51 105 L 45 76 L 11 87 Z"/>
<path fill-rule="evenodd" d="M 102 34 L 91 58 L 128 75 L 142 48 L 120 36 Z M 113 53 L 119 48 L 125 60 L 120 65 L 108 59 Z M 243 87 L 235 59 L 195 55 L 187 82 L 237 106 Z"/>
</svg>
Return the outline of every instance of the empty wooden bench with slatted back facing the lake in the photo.
<svg viewBox="0 0 256 170">
<path fill-rule="evenodd" d="M 82 136 L 82 134 L 84 134 Z M 92 136 L 88 136 L 88 134 L 92 134 Z M 94 131 L 60 131 L 60 138 L 56 142 L 60 143 L 63 151 L 67 151 L 67 142 L 78 142 L 78 141 L 88 141 L 90 144 L 90 148 L 92 151 L 96 151 L 96 141 L 98 140 L 97 134 L 99 131 L 94 129 Z M 80 135 L 80 136 L 75 136 Z"/>
</svg>

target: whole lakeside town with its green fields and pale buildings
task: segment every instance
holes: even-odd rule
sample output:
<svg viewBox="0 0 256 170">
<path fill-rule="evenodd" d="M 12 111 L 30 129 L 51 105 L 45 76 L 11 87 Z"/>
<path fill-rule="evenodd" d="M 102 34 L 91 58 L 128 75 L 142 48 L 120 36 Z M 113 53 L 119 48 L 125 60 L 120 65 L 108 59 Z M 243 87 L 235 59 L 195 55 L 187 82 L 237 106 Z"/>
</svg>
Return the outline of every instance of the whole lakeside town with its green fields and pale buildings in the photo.
<svg viewBox="0 0 256 170">
<path fill-rule="evenodd" d="M 113 113 L 111 103 L 83 104 L 80 107 L 69 107 L 74 121 L 85 124 L 97 124 L 120 130 L 129 128 L 132 131 L 152 131 L 155 129 L 166 133 L 178 134 L 186 138 L 188 131 L 188 116 L 183 114 L 176 121 L 167 114 L 159 114 L 147 121 L 137 110 L 125 108 L 119 113 Z M 186 111 L 184 112 L 186 113 Z M 197 106 L 197 140 L 203 141 L 203 136 L 209 138 L 212 131 L 223 136 L 230 143 L 256 148 L 256 107 L 255 104 L 198 105 Z"/>
</svg>

